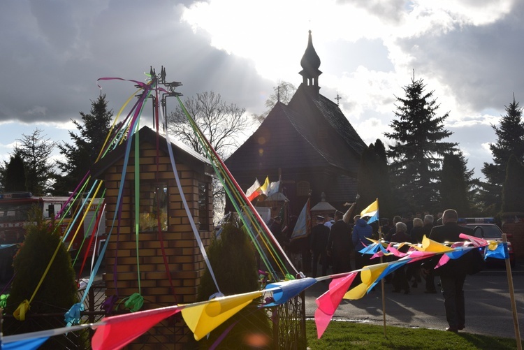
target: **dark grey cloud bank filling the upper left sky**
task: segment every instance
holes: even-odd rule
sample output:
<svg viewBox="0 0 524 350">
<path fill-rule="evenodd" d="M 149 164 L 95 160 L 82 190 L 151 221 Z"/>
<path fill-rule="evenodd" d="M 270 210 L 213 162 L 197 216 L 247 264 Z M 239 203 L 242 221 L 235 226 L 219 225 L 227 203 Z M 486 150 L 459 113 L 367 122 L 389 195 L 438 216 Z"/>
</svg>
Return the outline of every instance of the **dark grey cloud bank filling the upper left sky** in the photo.
<svg viewBox="0 0 524 350">
<path fill-rule="evenodd" d="M 190 1 L 186 1 L 190 3 Z M 60 122 L 88 112 L 96 79 L 144 80 L 150 66 L 193 96 L 213 90 L 241 107 L 260 105 L 272 82 L 252 61 L 210 46 L 206 34 L 180 21 L 173 1 L 8 1 L 0 14 L 0 122 Z M 111 108 L 133 93 L 132 83 L 103 82 Z"/>
</svg>

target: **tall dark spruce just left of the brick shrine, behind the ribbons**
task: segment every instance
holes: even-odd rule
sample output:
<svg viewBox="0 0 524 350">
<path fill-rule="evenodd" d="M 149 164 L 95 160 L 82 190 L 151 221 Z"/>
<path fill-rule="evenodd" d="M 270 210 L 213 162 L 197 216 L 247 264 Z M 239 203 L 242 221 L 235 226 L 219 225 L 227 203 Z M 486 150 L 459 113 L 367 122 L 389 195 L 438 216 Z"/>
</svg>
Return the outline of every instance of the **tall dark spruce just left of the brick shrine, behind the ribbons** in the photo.
<svg viewBox="0 0 524 350">
<path fill-rule="evenodd" d="M 69 131 L 73 143 L 58 145 L 66 160 L 57 161 L 63 174 L 57 177 L 56 194 L 66 195 L 68 191 L 73 191 L 101 152 L 112 119 L 112 110 L 108 110 L 105 94 L 101 94 L 96 101 L 91 101 L 89 114 L 80 112 L 80 116 L 82 122 L 72 120 L 79 133 Z"/>
</svg>

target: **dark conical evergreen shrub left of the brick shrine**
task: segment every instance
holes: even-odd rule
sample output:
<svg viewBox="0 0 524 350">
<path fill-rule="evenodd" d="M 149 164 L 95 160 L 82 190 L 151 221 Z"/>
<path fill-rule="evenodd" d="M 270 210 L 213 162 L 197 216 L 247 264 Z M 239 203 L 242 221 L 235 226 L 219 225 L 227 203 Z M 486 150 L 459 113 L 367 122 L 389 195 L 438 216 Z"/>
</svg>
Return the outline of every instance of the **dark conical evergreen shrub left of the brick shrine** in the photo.
<svg viewBox="0 0 524 350">
<path fill-rule="evenodd" d="M 25 321 L 6 319 L 4 334 L 64 327 L 64 316 L 57 316 L 51 321 L 48 318 L 33 318 L 30 315 L 65 314 L 78 302 L 71 256 L 61 244 L 59 233 L 54 230 L 54 222 L 43 221 L 39 210 L 31 212 L 29 222 L 33 224 L 27 227 L 26 238 L 13 261 L 15 277 L 7 299 L 6 314 L 12 315 L 22 301 L 31 300 L 57 247 L 58 250 L 45 279 L 31 300 L 27 312 L 29 318 Z M 46 344 L 48 343 L 49 341 Z"/>
</svg>

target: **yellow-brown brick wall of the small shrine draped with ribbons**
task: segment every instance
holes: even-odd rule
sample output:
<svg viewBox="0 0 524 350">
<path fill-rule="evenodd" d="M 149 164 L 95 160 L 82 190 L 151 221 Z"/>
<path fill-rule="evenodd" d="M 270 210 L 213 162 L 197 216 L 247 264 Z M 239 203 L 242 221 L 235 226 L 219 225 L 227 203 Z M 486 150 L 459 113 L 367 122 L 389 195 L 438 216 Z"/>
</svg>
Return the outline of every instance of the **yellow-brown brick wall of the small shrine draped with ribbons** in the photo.
<svg viewBox="0 0 524 350">
<path fill-rule="evenodd" d="M 105 254 L 105 285 L 106 295 L 117 294 L 120 299 L 139 293 L 138 289 L 138 265 L 140 266 L 141 295 L 144 298 L 144 306 L 141 310 L 165 307 L 175 304 L 190 303 L 196 301 L 200 279 L 205 270 L 205 263 L 194 233 L 187 217 L 182 197 L 177 189 L 173 170 L 170 166 L 168 156 L 162 154 L 159 157 L 159 173 L 156 176 L 156 151 L 152 145 L 147 143 L 140 145 L 140 203 L 143 198 L 148 198 L 148 183 L 156 183 L 155 178 L 167 186 L 167 230 L 161 233 L 165 258 L 168 263 L 168 271 L 164 264 L 161 248 L 160 234 L 157 229 L 140 232 L 138 235 L 138 258 L 137 242 L 135 234 L 135 205 L 134 205 L 134 158 L 133 152 L 129 159 L 129 165 L 124 182 L 122 197 L 122 212 L 120 219 L 116 219 L 115 228 L 112 230 L 108 249 Z M 112 219 L 116 212 L 119 182 L 122 176 L 123 161 L 115 163 L 105 172 L 105 187 L 107 188 L 105 202 L 107 203 L 106 226 L 112 225 Z M 204 174 L 195 173 L 191 168 L 182 163 L 177 163 L 177 170 L 182 183 L 182 190 L 189 205 L 194 221 L 198 222 L 198 184 L 204 182 L 211 189 L 211 178 Z M 212 223 L 212 198 L 208 191 L 209 222 Z M 119 222 L 119 228 L 117 230 Z M 198 226 L 197 226 L 198 227 Z M 212 227 L 201 228 L 200 231 L 203 245 L 207 247 L 212 237 Z M 114 271 L 115 259 L 117 265 Z M 170 289 L 169 277 L 172 279 L 175 295 Z M 116 280 L 116 285 L 115 285 Z M 123 304 L 123 303 L 122 303 Z M 183 321 L 180 316 L 166 320 L 152 328 L 143 337 L 138 338 L 135 345 L 144 348 L 144 344 L 173 344 L 174 348 L 182 347 L 182 342 L 187 340 L 187 328 L 181 330 Z M 174 335 L 174 332 L 178 333 Z M 191 335 L 192 337 L 192 335 Z M 176 343 L 176 344 L 175 344 Z M 175 347 L 176 345 L 176 347 Z"/>
</svg>

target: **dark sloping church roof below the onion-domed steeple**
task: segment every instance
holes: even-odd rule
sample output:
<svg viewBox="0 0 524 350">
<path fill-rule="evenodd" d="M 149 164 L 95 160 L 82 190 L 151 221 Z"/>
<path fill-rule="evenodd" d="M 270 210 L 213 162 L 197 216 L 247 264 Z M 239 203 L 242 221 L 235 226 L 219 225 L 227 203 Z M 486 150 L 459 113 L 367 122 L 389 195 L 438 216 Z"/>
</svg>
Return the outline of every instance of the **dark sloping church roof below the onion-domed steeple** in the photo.
<svg viewBox="0 0 524 350">
<path fill-rule="evenodd" d="M 300 85 L 289 105 L 275 104 L 259 129 L 227 159 L 233 173 L 333 167 L 356 177 L 363 140 L 336 103 L 306 90 Z"/>
</svg>

